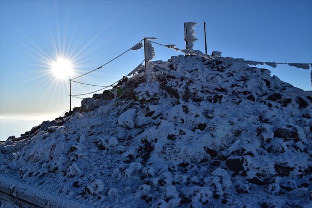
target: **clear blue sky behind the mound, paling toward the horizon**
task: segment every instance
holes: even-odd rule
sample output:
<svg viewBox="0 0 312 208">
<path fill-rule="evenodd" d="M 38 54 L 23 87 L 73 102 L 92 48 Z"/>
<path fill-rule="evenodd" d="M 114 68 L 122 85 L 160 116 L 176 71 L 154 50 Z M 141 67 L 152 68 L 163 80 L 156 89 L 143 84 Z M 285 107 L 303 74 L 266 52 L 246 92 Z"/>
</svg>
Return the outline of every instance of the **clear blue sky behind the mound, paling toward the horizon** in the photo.
<svg viewBox="0 0 312 208">
<path fill-rule="evenodd" d="M 205 52 L 205 21 L 208 54 L 312 63 L 312 0 L 0 0 L 0 140 L 62 115 L 69 109 L 69 78 L 98 68 L 144 37 L 184 49 L 187 21 L 198 23 L 195 50 Z M 179 55 L 154 47 L 153 60 Z M 52 72 L 59 59 L 71 62 L 69 77 Z M 143 59 L 142 49 L 129 51 L 76 80 L 110 85 Z M 311 70 L 262 67 L 296 87 L 312 89 Z M 72 84 L 73 95 L 99 89 Z M 92 94 L 81 97 L 86 96 Z M 80 101 L 72 98 L 72 107 Z"/>
</svg>

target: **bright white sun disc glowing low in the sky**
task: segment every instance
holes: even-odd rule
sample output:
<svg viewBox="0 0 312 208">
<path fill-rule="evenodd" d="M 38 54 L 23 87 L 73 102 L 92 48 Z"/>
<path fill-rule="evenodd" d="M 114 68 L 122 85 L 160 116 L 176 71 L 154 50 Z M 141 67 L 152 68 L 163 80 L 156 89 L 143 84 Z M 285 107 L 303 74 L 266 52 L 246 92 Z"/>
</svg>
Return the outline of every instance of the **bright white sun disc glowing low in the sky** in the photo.
<svg viewBox="0 0 312 208">
<path fill-rule="evenodd" d="M 67 79 L 73 75 L 72 63 L 64 58 L 59 58 L 51 64 L 52 73 L 58 79 Z"/>
</svg>

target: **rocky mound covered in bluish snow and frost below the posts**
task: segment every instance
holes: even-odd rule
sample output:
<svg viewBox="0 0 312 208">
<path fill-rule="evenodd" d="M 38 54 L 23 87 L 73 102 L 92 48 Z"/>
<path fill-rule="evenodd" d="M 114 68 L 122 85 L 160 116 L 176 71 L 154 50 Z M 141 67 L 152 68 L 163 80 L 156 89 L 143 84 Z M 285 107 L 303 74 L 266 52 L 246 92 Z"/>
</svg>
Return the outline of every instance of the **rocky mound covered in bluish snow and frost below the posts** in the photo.
<svg viewBox="0 0 312 208">
<path fill-rule="evenodd" d="M 243 59 L 152 64 L 150 83 L 137 73 L 0 144 L 0 188 L 51 207 L 312 205 L 311 91 Z"/>
</svg>

